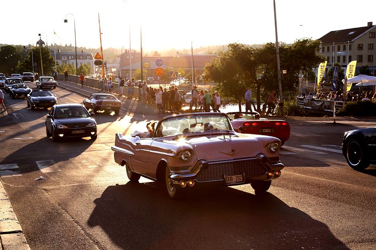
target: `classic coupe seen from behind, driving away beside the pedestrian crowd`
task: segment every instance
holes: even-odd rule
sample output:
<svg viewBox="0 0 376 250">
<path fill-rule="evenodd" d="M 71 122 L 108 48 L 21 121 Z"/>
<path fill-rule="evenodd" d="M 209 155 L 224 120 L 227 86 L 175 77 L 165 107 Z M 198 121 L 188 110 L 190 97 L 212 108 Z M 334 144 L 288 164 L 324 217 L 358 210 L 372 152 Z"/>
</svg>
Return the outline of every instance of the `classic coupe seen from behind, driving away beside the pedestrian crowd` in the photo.
<svg viewBox="0 0 376 250">
<path fill-rule="evenodd" d="M 92 112 L 99 110 L 113 111 L 119 114 L 121 101 L 111 94 L 92 94 L 89 98 L 83 100 L 85 108 L 91 109 Z"/>
</svg>

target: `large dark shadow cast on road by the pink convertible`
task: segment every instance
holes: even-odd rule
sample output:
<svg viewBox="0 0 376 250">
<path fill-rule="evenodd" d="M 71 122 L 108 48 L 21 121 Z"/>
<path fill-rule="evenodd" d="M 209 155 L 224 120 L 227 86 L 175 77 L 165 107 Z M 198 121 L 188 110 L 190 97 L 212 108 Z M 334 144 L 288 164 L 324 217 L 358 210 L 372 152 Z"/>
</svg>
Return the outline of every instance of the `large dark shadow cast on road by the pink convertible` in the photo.
<svg viewBox="0 0 376 250">
<path fill-rule="evenodd" d="M 270 193 L 190 191 L 171 200 L 154 182 L 110 186 L 88 225 L 121 249 L 348 249 L 324 223 Z"/>
</svg>

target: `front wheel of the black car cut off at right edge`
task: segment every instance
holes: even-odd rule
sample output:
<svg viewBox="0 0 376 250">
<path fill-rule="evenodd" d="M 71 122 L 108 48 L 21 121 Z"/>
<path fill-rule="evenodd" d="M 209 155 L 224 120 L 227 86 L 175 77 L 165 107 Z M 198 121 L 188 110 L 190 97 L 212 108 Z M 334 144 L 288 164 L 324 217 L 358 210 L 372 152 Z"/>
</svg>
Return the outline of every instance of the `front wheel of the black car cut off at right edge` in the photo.
<svg viewBox="0 0 376 250">
<path fill-rule="evenodd" d="M 347 143 L 346 160 L 354 170 L 363 170 L 370 164 L 369 159 L 365 155 L 364 147 L 355 139 L 351 139 Z"/>
</svg>

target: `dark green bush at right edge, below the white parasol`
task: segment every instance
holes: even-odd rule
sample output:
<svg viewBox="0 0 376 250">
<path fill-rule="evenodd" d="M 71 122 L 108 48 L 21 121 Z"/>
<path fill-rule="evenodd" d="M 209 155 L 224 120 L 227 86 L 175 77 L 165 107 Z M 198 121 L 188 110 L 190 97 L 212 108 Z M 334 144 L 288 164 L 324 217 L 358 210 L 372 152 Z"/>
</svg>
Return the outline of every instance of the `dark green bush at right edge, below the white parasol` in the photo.
<svg viewBox="0 0 376 250">
<path fill-rule="evenodd" d="M 369 101 L 349 102 L 336 114 L 338 116 L 376 116 L 376 103 Z"/>
</svg>

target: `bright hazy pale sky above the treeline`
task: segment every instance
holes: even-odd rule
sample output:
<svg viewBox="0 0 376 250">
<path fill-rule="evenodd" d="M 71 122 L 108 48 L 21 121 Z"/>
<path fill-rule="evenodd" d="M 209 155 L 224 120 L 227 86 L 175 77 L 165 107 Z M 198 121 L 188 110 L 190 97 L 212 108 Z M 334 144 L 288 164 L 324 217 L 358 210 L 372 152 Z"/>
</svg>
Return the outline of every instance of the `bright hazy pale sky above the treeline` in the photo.
<svg viewBox="0 0 376 250">
<path fill-rule="evenodd" d="M 374 0 L 275 2 L 279 42 L 376 25 Z M 273 0 L 12 0 L 2 1 L 0 43 L 35 44 L 40 33 L 75 45 L 75 21 L 77 46 L 99 48 L 98 13 L 103 48 L 140 50 L 141 30 L 145 51 L 276 41 Z"/>
</svg>

